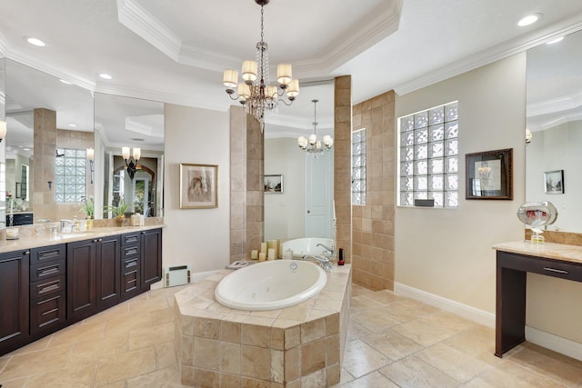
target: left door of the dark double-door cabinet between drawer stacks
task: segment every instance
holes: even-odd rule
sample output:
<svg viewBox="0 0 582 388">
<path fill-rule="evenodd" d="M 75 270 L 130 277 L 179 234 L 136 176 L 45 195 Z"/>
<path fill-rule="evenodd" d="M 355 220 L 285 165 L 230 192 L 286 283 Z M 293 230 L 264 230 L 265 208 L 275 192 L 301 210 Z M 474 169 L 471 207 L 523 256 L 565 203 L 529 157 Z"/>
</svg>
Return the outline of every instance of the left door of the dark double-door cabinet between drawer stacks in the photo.
<svg viewBox="0 0 582 388">
<path fill-rule="evenodd" d="M 66 312 L 74 323 L 96 312 L 95 240 L 66 245 Z"/>
</svg>

